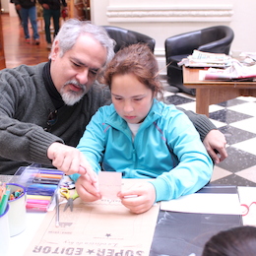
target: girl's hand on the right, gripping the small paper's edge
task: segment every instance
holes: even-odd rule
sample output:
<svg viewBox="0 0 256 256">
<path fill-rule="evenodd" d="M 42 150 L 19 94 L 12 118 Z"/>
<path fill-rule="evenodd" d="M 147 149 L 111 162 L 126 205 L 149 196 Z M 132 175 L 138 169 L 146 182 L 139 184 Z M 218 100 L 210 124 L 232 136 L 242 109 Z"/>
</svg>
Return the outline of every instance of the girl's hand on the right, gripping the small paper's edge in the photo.
<svg viewBox="0 0 256 256">
<path fill-rule="evenodd" d="M 156 190 L 152 183 L 139 183 L 120 192 L 118 197 L 122 204 L 134 214 L 142 214 L 150 210 L 156 201 Z"/>
</svg>

